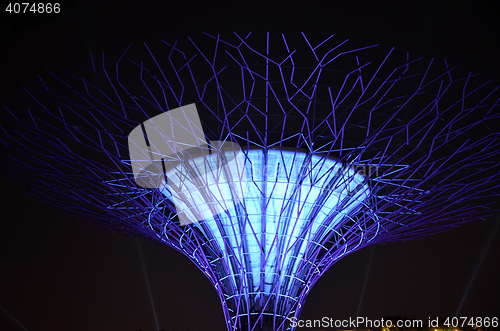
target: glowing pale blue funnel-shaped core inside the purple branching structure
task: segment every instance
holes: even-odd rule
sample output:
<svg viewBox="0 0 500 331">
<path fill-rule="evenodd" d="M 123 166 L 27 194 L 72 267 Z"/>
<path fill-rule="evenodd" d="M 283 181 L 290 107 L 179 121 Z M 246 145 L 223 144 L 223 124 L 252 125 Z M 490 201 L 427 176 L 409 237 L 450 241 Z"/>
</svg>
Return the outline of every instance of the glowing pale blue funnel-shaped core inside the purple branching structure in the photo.
<svg viewBox="0 0 500 331">
<path fill-rule="evenodd" d="M 233 300 L 270 294 L 293 299 L 314 266 L 308 248 L 320 247 L 340 221 L 363 206 L 370 196 L 366 178 L 336 160 L 273 149 L 246 151 L 245 172 L 244 199 L 195 225 L 208 239 L 204 245 L 217 252 L 211 263 L 221 270 Z M 231 195 L 229 183 L 213 186 L 208 189 Z M 163 192 L 171 197 L 168 188 Z M 200 197 L 193 205 L 211 202 Z"/>
</svg>

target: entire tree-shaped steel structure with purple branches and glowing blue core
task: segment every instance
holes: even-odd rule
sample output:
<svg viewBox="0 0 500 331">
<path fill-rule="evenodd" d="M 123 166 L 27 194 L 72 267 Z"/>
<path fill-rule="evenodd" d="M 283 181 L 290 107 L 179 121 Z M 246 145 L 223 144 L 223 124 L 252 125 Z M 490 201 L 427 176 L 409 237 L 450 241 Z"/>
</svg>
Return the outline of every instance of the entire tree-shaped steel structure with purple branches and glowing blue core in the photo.
<svg viewBox="0 0 500 331">
<path fill-rule="evenodd" d="M 4 106 L 4 164 L 36 198 L 186 255 L 228 330 L 293 330 L 340 258 L 485 217 L 500 193 L 498 87 L 393 53 L 207 34 L 91 56 Z M 193 104 L 206 154 L 184 161 L 201 179 L 173 187 L 163 160 L 141 185 L 131 132 Z"/>
</svg>

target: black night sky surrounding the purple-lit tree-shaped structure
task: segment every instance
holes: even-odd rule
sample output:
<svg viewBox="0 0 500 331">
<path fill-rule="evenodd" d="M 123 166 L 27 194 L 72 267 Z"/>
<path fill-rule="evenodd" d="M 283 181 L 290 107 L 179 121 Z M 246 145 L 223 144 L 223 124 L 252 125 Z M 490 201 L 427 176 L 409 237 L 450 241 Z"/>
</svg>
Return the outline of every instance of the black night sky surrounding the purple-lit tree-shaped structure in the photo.
<svg viewBox="0 0 500 331">
<path fill-rule="evenodd" d="M 45 69 L 68 60 L 86 63 L 89 52 L 118 52 L 130 43 L 202 31 L 336 34 L 338 40 L 446 58 L 500 84 L 497 1 L 227 1 L 220 8 L 212 1 L 102 2 L 76 1 L 65 14 L 40 21 L 3 12 L 2 102 Z M 180 253 L 89 225 L 16 186 L 2 177 L 0 330 L 155 330 L 138 245 L 161 328 L 225 330 L 215 290 Z M 356 252 L 323 276 L 301 317 L 355 317 L 372 253 L 361 316 L 454 316 L 470 284 L 459 316 L 500 317 L 499 225 L 497 213 L 422 240 Z"/>
</svg>

